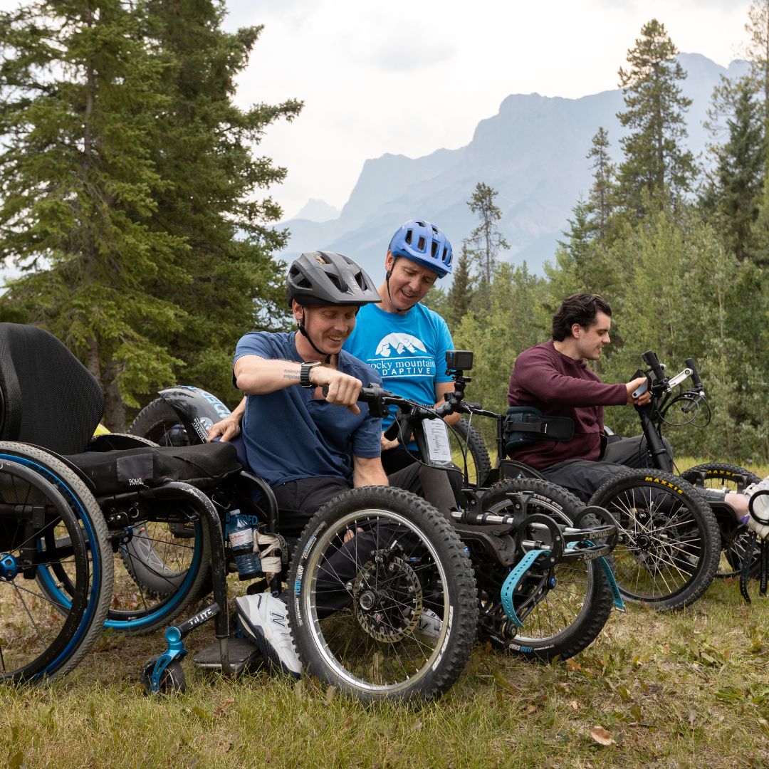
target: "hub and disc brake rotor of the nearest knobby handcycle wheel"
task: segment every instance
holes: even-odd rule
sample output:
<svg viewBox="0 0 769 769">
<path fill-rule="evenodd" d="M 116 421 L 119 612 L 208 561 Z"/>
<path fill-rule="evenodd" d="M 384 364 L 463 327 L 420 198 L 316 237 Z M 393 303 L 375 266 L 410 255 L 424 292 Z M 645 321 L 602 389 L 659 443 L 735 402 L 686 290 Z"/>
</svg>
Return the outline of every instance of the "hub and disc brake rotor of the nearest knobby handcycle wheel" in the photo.
<svg viewBox="0 0 769 769">
<path fill-rule="evenodd" d="M 394 643 L 410 636 L 422 612 L 417 575 L 402 558 L 368 561 L 352 585 L 352 608 L 363 631 L 376 641 Z"/>
</svg>

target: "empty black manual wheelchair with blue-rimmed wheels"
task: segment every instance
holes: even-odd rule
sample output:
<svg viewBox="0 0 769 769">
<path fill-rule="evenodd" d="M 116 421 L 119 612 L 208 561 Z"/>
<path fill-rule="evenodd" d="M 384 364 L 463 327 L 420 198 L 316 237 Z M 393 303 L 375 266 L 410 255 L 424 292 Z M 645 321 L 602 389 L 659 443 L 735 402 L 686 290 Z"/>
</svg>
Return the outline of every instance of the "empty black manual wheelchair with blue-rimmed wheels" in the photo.
<svg viewBox="0 0 769 769">
<path fill-rule="evenodd" d="M 0 324 L 0 396 L 0 678 L 39 681 L 74 667 L 105 626 L 168 624 L 201 590 L 203 564 L 224 574 L 203 490 L 230 504 L 241 465 L 226 444 L 92 438 L 98 383 L 41 328 Z M 227 628 L 223 581 L 214 589 Z"/>
</svg>

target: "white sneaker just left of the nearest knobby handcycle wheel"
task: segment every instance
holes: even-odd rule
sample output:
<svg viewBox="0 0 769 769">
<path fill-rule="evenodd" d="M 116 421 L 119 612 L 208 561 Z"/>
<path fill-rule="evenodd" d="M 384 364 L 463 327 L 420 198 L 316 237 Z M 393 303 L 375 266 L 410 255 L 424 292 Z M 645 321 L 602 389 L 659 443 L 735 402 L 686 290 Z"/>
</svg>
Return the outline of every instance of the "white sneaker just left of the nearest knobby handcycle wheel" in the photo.
<svg viewBox="0 0 769 769">
<path fill-rule="evenodd" d="M 235 598 L 235 607 L 243 631 L 265 659 L 284 673 L 299 677 L 301 662 L 291 641 L 288 606 L 269 593 L 256 593 Z"/>
</svg>

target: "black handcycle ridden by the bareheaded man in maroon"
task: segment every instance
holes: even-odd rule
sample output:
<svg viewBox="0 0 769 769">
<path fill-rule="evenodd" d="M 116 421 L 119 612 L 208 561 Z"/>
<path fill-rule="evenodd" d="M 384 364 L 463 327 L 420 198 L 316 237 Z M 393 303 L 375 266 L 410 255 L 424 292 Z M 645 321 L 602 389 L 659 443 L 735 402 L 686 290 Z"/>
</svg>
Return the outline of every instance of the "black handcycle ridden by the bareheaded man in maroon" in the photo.
<svg viewBox="0 0 769 769">
<path fill-rule="evenodd" d="M 623 597 L 673 610 L 697 601 L 714 576 L 735 574 L 742 565 L 746 528 L 736 521 L 728 504 L 712 495 L 705 498 L 701 491 L 743 491 L 758 478 L 744 468 L 724 463 L 700 464 L 681 475 L 674 474 L 673 461 L 662 440 L 662 426 L 671 424 L 674 413 L 680 411 L 676 424 L 704 427 L 709 414 L 704 387 L 691 358 L 680 373 L 670 378 L 653 351 L 645 352 L 642 358 L 648 368 L 639 369 L 633 378 L 647 378 L 652 398 L 649 404 L 635 408 L 651 468 L 617 474 L 593 494 L 588 504 L 607 508 L 620 527 L 611 562 Z M 685 388 L 689 380 L 691 386 Z M 569 438 L 568 432 L 559 436 L 558 420 L 536 409 L 515 407 L 504 416 L 473 409 L 471 413 L 497 420 L 498 462 L 481 485 L 491 484 L 501 475 L 544 478 L 528 464 L 517 461 L 516 450 L 530 441 Z M 471 422 L 465 431 L 468 436 L 474 431 Z M 478 438 L 475 431 L 472 441 L 468 440 L 474 465 L 491 467 L 488 452 Z M 755 561 L 751 568 L 756 568 Z"/>
</svg>

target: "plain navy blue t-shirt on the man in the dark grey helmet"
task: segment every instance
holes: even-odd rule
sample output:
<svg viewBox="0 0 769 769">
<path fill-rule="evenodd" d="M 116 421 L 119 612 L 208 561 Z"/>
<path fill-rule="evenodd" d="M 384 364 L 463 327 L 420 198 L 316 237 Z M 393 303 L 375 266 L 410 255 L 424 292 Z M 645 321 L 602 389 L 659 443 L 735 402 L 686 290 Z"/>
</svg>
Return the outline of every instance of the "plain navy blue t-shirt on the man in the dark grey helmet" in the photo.
<svg viewBox="0 0 769 769">
<path fill-rule="evenodd" d="M 296 351 L 296 332 L 246 334 L 235 348 L 233 365 L 243 355 L 283 361 L 302 361 Z M 364 384 L 381 379 L 367 365 L 342 350 L 338 370 Z M 380 420 L 359 403 L 360 414 L 313 398 L 315 390 L 298 384 L 265 395 L 248 395 L 243 438 L 248 464 L 271 486 L 299 478 L 344 478 L 352 482 L 353 457 L 381 454 Z"/>
</svg>

